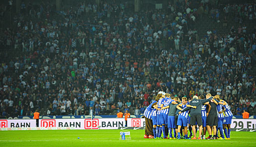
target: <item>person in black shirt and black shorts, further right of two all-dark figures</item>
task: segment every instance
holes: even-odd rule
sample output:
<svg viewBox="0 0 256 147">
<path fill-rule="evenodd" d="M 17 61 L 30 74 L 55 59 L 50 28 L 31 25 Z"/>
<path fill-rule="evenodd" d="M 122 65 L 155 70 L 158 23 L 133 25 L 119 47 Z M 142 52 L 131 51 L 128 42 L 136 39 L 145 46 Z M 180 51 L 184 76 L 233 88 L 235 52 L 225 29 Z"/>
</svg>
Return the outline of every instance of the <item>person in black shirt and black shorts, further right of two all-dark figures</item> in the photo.
<svg viewBox="0 0 256 147">
<path fill-rule="evenodd" d="M 206 99 L 211 98 L 211 94 L 206 95 Z M 216 139 L 216 126 L 218 125 L 218 115 L 217 115 L 217 105 L 218 102 L 214 99 L 212 99 L 210 102 L 211 105 L 211 110 L 209 112 L 209 115 L 206 119 L 206 128 L 209 133 L 209 137 L 207 138 L 208 140 L 215 140 Z M 206 107 L 206 109 L 209 109 L 209 107 Z M 214 136 L 212 137 L 212 128 L 213 127 L 213 134 Z"/>
</svg>

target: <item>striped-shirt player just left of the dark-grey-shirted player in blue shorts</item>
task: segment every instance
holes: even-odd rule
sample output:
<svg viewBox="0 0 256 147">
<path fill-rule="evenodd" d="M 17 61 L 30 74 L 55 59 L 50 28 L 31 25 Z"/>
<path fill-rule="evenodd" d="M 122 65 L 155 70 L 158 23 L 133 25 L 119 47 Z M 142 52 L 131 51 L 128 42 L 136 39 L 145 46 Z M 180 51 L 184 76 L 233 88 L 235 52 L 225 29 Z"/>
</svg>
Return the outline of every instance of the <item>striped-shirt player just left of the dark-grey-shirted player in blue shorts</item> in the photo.
<svg viewBox="0 0 256 147">
<path fill-rule="evenodd" d="M 165 100 L 162 101 L 161 104 L 161 111 L 160 111 L 160 122 L 162 124 L 162 132 L 163 132 L 163 138 L 164 139 L 168 139 L 166 137 L 166 134 L 168 135 L 168 131 L 167 131 L 167 121 L 168 121 L 168 113 L 169 113 L 169 108 L 167 108 L 166 106 L 168 106 L 170 103 L 172 104 L 177 104 L 176 101 L 172 100 L 170 98 L 170 94 L 165 94 Z M 165 107 L 165 109 L 162 109 L 163 107 Z M 167 131 L 167 132 L 165 132 Z"/>
</svg>

